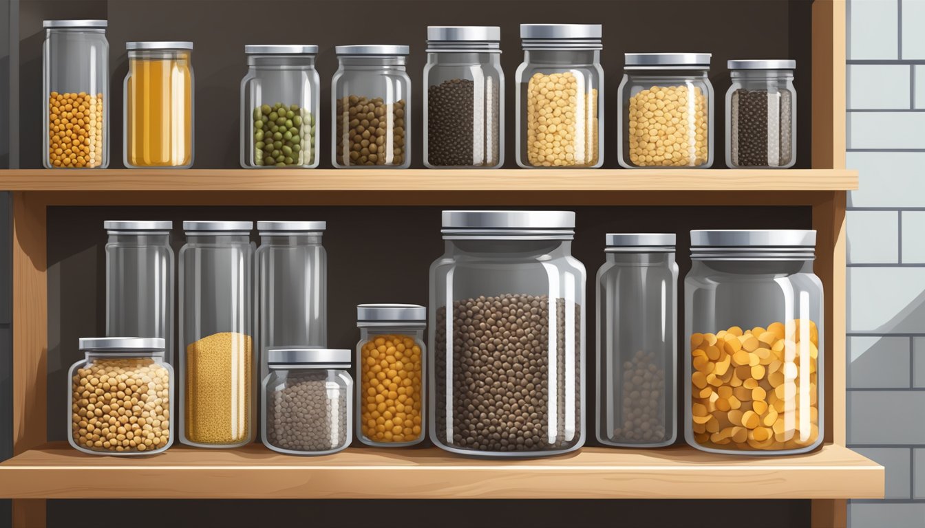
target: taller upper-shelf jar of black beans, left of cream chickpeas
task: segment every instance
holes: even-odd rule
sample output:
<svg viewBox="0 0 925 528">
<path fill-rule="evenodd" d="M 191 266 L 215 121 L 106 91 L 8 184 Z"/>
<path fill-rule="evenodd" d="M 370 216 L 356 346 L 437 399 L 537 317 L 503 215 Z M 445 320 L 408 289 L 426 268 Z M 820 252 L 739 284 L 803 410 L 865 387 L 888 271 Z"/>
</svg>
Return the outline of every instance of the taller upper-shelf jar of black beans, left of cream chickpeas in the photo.
<svg viewBox="0 0 925 528">
<path fill-rule="evenodd" d="M 497 26 L 429 26 L 424 165 L 504 165 L 504 72 Z"/>
</svg>

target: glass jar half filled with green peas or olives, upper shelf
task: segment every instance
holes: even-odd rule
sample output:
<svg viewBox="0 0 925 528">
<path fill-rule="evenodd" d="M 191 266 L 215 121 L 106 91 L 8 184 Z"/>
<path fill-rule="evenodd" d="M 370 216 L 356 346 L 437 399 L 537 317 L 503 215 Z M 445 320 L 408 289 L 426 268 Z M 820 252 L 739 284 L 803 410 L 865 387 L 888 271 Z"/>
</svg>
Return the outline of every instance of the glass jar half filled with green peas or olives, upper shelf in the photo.
<svg viewBox="0 0 925 528">
<path fill-rule="evenodd" d="M 247 45 L 240 81 L 240 166 L 318 166 L 318 46 Z"/>
</svg>

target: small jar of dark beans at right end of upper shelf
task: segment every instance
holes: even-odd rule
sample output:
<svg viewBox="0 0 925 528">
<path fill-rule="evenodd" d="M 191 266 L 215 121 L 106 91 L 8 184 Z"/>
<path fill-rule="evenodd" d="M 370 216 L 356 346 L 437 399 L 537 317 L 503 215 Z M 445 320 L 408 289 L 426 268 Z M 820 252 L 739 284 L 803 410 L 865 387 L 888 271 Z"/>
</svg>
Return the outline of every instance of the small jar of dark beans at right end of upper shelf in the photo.
<svg viewBox="0 0 925 528">
<path fill-rule="evenodd" d="M 796 60 L 731 60 L 726 92 L 726 166 L 796 163 Z"/>
</svg>

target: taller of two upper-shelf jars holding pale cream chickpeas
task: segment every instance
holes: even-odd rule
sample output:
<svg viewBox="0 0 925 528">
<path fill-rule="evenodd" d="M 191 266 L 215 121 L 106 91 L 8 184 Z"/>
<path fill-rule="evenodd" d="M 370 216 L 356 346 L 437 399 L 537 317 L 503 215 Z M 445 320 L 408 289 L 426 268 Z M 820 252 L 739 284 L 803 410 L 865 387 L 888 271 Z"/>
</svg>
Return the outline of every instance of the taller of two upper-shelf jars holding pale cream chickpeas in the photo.
<svg viewBox="0 0 925 528">
<path fill-rule="evenodd" d="M 600 34 L 600 24 L 521 24 L 524 62 L 516 76 L 517 165 L 603 165 Z"/>
</svg>

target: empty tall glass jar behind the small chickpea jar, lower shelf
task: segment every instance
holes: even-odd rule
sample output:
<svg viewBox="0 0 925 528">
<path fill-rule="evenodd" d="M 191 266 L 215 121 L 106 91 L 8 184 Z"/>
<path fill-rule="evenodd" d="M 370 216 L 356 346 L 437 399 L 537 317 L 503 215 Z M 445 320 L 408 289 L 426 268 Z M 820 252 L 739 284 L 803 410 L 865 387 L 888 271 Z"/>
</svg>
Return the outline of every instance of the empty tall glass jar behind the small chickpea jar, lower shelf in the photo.
<svg viewBox="0 0 925 528">
<path fill-rule="evenodd" d="M 164 338 L 174 347 L 170 220 L 106 220 L 106 336 Z"/>
</svg>

